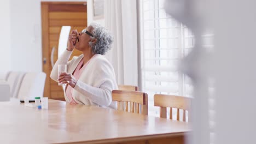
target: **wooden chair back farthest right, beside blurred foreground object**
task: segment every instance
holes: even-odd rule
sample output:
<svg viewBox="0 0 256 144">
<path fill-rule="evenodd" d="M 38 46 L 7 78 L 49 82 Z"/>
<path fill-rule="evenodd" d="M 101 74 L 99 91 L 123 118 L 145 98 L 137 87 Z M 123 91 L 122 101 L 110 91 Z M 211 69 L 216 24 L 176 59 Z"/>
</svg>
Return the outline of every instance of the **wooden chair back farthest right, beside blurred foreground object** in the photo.
<svg viewBox="0 0 256 144">
<path fill-rule="evenodd" d="M 185 111 L 189 111 L 191 103 L 191 98 L 180 97 L 176 95 L 164 95 L 155 94 L 154 95 L 154 106 L 160 106 L 160 117 L 167 118 L 166 107 L 170 107 L 170 119 L 172 119 L 172 108 L 177 109 L 177 121 L 179 121 L 179 109 L 183 110 L 183 121 L 186 121 Z"/>
</svg>

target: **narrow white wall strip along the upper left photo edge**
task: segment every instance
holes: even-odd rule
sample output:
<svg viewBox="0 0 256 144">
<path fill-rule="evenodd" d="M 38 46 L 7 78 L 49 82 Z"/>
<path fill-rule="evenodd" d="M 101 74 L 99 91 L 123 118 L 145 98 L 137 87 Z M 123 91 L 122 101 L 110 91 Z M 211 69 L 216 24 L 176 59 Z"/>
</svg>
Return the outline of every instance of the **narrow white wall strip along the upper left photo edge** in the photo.
<svg viewBox="0 0 256 144">
<path fill-rule="evenodd" d="M 11 49 L 10 49 L 10 2 L 0 1 L 0 71 L 8 71 L 11 69 Z"/>
</svg>

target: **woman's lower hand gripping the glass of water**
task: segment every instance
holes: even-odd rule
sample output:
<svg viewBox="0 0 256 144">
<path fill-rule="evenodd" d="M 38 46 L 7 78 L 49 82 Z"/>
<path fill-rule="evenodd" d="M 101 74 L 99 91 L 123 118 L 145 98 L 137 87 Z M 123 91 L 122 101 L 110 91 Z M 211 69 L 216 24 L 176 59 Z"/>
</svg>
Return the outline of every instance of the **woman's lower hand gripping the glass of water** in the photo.
<svg viewBox="0 0 256 144">
<path fill-rule="evenodd" d="M 58 82 L 68 84 L 73 88 L 77 84 L 77 80 L 75 80 L 74 76 L 68 73 L 61 73 L 59 76 Z"/>
</svg>

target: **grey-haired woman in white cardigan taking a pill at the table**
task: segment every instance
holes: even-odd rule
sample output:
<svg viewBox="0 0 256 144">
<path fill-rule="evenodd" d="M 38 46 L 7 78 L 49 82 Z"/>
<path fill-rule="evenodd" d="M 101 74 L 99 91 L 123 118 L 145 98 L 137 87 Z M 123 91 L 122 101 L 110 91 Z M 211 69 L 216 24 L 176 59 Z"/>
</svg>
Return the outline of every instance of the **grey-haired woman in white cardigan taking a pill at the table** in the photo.
<svg viewBox="0 0 256 144">
<path fill-rule="evenodd" d="M 113 89 L 118 89 L 114 69 L 103 56 L 112 42 L 112 35 L 97 23 L 69 35 L 67 50 L 51 71 L 51 79 L 67 84 L 64 94 L 68 103 L 116 107 L 111 95 Z M 68 61 L 73 49 L 83 54 Z M 67 73 L 58 76 L 59 64 L 67 64 Z"/>
</svg>

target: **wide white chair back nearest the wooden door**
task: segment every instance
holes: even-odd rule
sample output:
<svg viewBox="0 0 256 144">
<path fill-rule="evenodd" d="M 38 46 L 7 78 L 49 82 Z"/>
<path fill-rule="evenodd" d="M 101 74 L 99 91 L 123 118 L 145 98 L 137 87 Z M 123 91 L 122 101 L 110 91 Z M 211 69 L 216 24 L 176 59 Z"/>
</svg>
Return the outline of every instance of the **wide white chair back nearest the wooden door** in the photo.
<svg viewBox="0 0 256 144">
<path fill-rule="evenodd" d="M 46 74 L 43 72 L 25 74 L 21 83 L 18 98 L 34 99 L 34 97 L 43 97 L 45 78 Z"/>
</svg>

